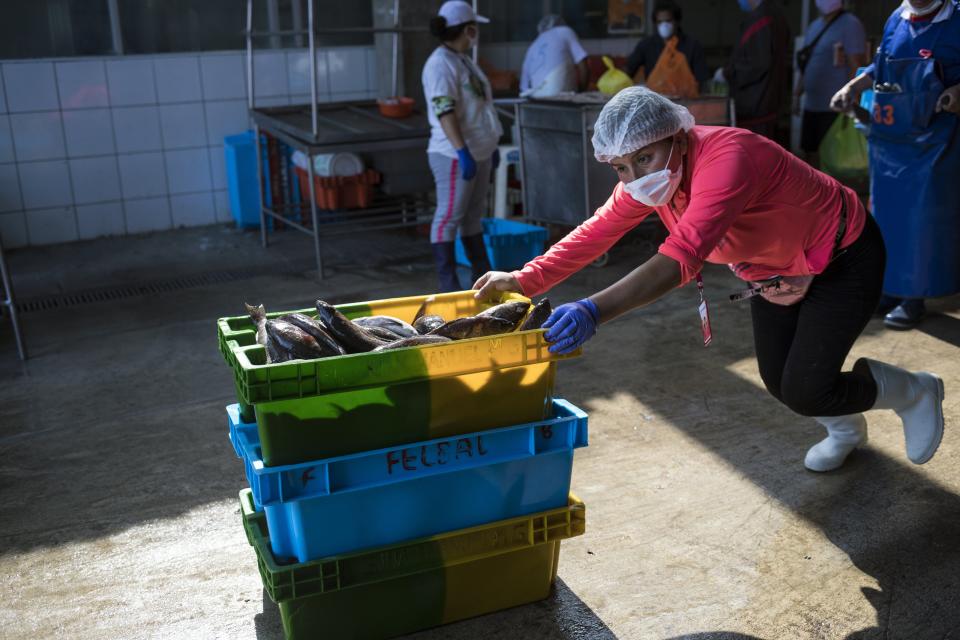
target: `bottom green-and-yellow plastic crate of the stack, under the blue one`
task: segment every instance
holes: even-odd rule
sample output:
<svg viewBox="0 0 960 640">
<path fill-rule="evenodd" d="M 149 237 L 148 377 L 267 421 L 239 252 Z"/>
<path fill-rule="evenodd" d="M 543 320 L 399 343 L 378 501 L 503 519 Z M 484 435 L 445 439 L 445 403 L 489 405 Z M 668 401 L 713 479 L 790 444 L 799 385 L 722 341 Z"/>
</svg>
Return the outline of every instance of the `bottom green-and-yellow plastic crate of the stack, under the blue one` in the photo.
<svg viewBox="0 0 960 640">
<path fill-rule="evenodd" d="M 571 495 L 560 509 L 279 565 L 249 489 L 240 492 L 240 504 L 264 589 L 280 605 L 289 640 L 391 638 L 542 600 L 557 575 L 560 541 L 586 527 L 586 507 Z"/>
</svg>

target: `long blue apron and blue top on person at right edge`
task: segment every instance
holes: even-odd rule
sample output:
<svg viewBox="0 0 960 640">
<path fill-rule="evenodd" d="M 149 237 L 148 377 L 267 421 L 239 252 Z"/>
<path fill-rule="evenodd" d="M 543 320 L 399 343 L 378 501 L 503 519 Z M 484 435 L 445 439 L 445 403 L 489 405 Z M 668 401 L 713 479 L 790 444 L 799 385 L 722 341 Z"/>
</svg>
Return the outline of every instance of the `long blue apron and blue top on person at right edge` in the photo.
<svg viewBox="0 0 960 640">
<path fill-rule="evenodd" d="M 960 292 L 960 118 L 935 112 L 941 36 L 960 39 L 956 4 L 916 37 L 899 20 L 875 62 L 870 195 L 887 245 L 883 291 L 901 298 Z M 907 43 L 915 57 L 894 57 Z"/>
</svg>

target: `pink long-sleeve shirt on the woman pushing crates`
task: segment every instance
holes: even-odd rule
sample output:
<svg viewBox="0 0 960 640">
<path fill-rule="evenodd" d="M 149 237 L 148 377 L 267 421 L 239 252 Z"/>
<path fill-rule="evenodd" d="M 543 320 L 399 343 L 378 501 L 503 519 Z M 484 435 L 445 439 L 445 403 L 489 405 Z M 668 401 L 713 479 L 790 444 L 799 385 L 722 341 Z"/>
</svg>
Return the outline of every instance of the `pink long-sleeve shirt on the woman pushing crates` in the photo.
<svg viewBox="0 0 960 640">
<path fill-rule="evenodd" d="M 704 262 L 744 280 L 821 273 L 830 262 L 842 204 L 849 246 L 866 211 L 853 190 L 763 136 L 731 127 L 690 131 L 684 175 L 670 203 L 648 207 L 617 184 L 606 204 L 513 275 L 539 295 L 590 264 L 656 212 L 670 232 L 660 253 L 680 264 L 684 285 Z"/>
</svg>

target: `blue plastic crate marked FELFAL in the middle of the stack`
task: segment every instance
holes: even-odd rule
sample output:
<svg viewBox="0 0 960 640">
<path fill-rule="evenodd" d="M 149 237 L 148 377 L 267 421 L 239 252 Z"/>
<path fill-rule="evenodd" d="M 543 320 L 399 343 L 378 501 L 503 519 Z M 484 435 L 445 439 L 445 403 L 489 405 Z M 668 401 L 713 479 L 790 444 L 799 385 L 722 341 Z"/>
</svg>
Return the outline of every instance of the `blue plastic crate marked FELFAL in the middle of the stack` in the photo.
<svg viewBox="0 0 960 640">
<path fill-rule="evenodd" d="M 587 415 L 565 400 L 552 409 L 539 422 L 280 467 L 264 466 L 238 406 L 227 414 L 273 553 L 307 562 L 562 507 Z"/>
</svg>

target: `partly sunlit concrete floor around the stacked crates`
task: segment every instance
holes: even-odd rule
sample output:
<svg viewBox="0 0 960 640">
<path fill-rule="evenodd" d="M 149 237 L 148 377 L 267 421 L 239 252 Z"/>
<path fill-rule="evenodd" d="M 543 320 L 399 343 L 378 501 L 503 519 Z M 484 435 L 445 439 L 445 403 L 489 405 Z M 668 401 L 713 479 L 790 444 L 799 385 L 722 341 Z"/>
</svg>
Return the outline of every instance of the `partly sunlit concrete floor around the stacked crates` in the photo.
<svg viewBox="0 0 960 640">
<path fill-rule="evenodd" d="M 0 325 L 0 637 L 282 638 L 244 538 L 233 402 L 214 319 L 433 289 L 423 241 L 337 242 L 322 283 L 306 238 L 219 227 L 14 253 L 20 294 L 260 265 L 262 276 L 23 317 L 21 365 Z M 379 244 L 378 244 L 379 242 Z M 653 250 L 634 241 L 551 294 L 589 294 Z M 360 268 L 355 256 L 378 256 Z M 354 260 L 355 262 L 355 260 Z M 564 543 L 549 600 L 411 636 L 440 638 L 960 638 L 960 298 L 919 331 L 874 322 L 852 358 L 937 371 L 948 431 L 911 465 L 889 412 L 841 471 L 804 471 L 821 437 L 763 391 L 736 281 L 604 326 L 560 368 L 591 416 L 575 492 L 587 534 Z M 375 612 L 372 612 L 375 613 Z"/>
</svg>

